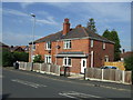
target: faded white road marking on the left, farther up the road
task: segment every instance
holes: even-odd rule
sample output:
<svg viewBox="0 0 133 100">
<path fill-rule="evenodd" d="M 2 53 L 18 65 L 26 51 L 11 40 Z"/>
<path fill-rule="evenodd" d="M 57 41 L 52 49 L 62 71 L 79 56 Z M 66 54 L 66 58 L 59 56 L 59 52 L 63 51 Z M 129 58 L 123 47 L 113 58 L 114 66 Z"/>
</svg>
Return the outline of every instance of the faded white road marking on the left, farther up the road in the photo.
<svg viewBox="0 0 133 100">
<path fill-rule="evenodd" d="M 43 86 L 43 84 L 38 84 L 38 83 L 34 83 L 34 82 L 29 82 L 29 81 L 19 80 L 19 79 L 12 79 L 11 81 L 22 83 L 22 84 L 25 84 L 25 86 L 30 86 L 30 87 L 33 87 L 33 88 L 47 87 L 47 86 Z"/>
</svg>

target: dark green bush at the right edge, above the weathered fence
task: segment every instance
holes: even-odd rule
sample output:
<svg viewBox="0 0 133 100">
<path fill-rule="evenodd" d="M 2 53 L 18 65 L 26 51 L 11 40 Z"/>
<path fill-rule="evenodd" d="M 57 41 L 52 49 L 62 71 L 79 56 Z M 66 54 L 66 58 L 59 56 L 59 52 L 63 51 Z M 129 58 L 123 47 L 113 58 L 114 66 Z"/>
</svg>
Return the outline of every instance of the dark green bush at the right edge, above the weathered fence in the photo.
<svg viewBox="0 0 133 100">
<path fill-rule="evenodd" d="M 133 56 L 130 56 L 129 58 L 125 58 L 124 64 L 125 64 L 125 70 L 133 71 Z"/>
</svg>

